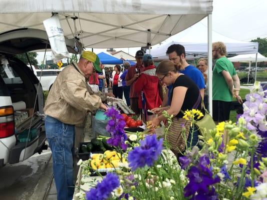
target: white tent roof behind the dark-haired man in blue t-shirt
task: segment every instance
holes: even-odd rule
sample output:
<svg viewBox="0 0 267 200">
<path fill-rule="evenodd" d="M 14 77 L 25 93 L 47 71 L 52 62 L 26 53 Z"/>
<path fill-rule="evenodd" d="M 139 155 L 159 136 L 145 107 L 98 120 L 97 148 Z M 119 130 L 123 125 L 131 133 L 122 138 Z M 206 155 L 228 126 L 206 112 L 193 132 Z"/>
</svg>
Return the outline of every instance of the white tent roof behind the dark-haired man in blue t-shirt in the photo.
<svg viewBox="0 0 267 200">
<path fill-rule="evenodd" d="M 151 54 L 158 59 L 167 59 L 166 50 L 174 43 L 182 44 L 185 47 L 187 58 L 207 56 L 207 27 L 198 22 L 172 37 L 172 41 L 162 45 L 152 46 Z M 222 41 L 226 45 L 228 54 L 244 54 L 258 52 L 257 42 L 238 41 L 231 39 L 215 31 L 212 31 L 212 41 Z"/>
</svg>

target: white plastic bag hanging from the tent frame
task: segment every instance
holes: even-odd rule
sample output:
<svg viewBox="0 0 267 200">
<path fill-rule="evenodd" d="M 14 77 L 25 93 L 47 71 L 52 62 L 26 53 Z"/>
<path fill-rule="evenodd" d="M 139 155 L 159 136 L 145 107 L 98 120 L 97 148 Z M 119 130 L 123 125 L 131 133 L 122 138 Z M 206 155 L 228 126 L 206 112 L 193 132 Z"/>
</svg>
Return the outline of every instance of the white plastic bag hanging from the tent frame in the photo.
<svg viewBox="0 0 267 200">
<path fill-rule="evenodd" d="M 49 19 L 44 20 L 43 23 L 45 25 L 52 53 L 55 59 L 59 60 L 64 57 L 70 57 L 58 14 L 54 14 Z"/>
</svg>

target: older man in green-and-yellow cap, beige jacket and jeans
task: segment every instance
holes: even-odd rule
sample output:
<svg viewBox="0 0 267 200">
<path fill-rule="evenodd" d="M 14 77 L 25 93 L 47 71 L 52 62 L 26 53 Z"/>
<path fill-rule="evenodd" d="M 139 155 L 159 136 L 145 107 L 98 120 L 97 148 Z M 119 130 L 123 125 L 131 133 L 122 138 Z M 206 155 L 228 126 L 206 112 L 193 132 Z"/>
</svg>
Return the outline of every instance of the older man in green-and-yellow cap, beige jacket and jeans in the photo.
<svg viewBox="0 0 267 200">
<path fill-rule="evenodd" d="M 57 76 L 46 100 L 46 137 L 52 151 L 58 200 L 72 199 L 75 125 L 83 123 L 87 111 L 107 109 L 98 95 L 90 95 L 86 79 L 102 71 L 98 56 L 84 51 L 78 63 L 66 66 Z"/>
</svg>

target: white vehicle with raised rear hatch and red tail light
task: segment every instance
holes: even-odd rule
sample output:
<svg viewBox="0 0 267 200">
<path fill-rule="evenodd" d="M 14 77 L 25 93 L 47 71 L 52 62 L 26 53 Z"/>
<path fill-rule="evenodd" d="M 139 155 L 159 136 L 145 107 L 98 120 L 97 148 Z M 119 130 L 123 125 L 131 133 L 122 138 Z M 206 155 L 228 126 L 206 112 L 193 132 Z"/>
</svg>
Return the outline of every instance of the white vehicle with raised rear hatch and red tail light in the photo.
<svg viewBox="0 0 267 200">
<path fill-rule="evenodd" d="M 77 53 L 77 41 L 65 40 L 69 52 Z M 34 71 L 15 57 L 46 47 L 50 45 L 44 30 L 20 28 L 0 33 L 0 166 L 47 148 L 43 89 Z"/>
</svg>

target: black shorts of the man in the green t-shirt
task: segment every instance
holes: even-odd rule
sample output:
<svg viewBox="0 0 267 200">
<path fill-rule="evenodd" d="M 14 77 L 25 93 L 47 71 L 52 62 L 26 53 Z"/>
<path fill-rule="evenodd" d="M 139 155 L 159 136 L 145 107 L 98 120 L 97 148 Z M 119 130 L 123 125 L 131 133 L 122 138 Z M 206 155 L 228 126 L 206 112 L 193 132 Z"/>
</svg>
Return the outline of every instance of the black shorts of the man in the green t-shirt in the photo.
<svg viewBox="0 0 267 200">
<path fill-rule="evenodd" d="M 212 118 L 214 121 L 229 120 L 231 102 L 222 100 L 212 100 Z"/>
</svg>

